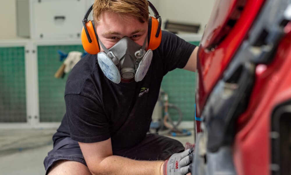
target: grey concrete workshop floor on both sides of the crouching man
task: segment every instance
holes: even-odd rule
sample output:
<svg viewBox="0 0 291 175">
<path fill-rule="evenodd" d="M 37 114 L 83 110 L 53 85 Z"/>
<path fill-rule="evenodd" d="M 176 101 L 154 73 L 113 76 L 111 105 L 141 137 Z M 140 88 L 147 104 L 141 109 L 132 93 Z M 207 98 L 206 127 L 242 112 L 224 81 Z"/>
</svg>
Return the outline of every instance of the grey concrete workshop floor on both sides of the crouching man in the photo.
<svg viewBox="0 0 291 175">
<path fill-rule="evenodd" d="M 194 132 L 191 136 L 171 137 L 179 140 L 183 145 L 186 142 L 194 143 Z M 0 130 L 0 175 L 45 174 L 43 160 L 47 152 L 52 150 L 51 130 Z"/>
</svg>

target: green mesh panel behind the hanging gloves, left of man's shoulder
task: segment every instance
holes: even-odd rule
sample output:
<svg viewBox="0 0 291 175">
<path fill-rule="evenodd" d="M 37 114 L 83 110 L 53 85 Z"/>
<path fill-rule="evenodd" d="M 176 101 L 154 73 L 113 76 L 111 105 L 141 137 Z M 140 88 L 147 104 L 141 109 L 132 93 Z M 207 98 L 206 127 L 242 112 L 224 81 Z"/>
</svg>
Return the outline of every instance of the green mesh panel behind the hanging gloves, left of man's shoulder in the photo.
<svg viewBox="0 0 291 175">
<path fill-rule="evenodd" d="M 65 114 L 65 83 L 63 79 L 55 78 L 54 74 L 61 66 L 58 50 L 84 52 L 82 46 L 38 46 L 38 83 L 40 122 L 59 122 Z"/>
</svg>

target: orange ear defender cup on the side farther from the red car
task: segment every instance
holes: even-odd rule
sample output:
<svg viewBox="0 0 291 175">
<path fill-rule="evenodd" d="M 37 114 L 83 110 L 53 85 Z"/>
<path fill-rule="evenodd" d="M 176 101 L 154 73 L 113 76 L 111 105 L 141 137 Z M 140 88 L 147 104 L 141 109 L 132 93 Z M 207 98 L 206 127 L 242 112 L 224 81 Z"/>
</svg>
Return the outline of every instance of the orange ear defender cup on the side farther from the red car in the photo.
<svg viewBox="0 0 291 175">
<path fill-rule="evenodd" d="M 83 26 L 82 33 L 81 33 L 82 45 L 83 45 L 84 50 L 86 50 L 86 52 L 88 52 L 92 55 L 95 55 L 95 54 L 100 52 L 100 48 L 99 48 L 99 44 L 97 41 L 94 25 L 93 25 L 91 20 L 86 22 L 86 27 L 88 29 L 88 32 L 89 32 L 89 35 L 90 35 L 92 42 L 89 43 L 84 26 Z"/>
</svg>

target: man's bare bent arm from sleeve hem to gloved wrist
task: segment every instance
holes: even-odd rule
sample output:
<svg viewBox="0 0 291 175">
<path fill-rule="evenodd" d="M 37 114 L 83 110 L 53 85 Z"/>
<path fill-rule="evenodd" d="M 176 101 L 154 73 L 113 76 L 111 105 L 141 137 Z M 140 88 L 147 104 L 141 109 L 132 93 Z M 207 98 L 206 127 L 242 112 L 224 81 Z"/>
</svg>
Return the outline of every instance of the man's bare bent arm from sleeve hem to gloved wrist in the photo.
<svg viewBox="0 0 291 175">
<path fill-rule="evenodd" d="M 163 161 L 138 161 L 112 154 L 111 139 L 96 143 L 80 143 L 92 174 L 162 175 Z"/>
</svg>

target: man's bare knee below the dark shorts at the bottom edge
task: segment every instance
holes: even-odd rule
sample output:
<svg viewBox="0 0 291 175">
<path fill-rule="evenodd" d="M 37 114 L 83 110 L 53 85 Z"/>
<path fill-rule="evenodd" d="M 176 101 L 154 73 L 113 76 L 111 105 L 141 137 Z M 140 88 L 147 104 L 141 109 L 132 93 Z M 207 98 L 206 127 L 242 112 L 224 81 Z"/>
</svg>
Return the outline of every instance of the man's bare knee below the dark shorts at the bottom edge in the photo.
<svg viewBox="0 0 291 175">
<path fill-rule="evenodd" d="M 58 160 L 54 162 L 52 167 L 48 170 L 48 175 L 92 175 L 87 166 L 80 162 L 69 161 L 69 160 Z"/>
</svg>

